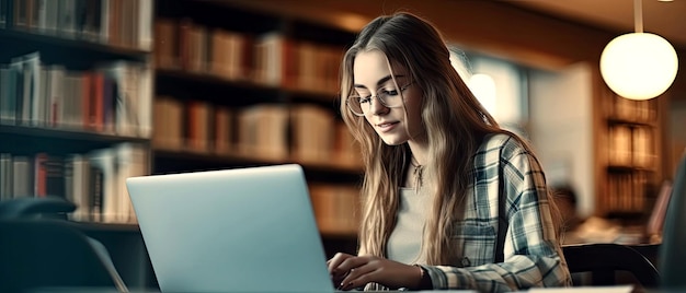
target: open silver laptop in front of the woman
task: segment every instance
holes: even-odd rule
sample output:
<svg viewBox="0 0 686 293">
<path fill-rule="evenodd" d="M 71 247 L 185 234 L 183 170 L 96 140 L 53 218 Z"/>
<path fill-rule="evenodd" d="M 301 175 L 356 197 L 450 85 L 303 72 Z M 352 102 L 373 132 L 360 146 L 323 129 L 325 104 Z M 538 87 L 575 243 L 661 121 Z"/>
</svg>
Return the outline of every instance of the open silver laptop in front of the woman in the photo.
<svg viewBox="0 0 686 293">
<path fill-rule="evenodd" d="M 126 180 L 162 292 L 333 292 L 296 164 Z"/>
</svg>

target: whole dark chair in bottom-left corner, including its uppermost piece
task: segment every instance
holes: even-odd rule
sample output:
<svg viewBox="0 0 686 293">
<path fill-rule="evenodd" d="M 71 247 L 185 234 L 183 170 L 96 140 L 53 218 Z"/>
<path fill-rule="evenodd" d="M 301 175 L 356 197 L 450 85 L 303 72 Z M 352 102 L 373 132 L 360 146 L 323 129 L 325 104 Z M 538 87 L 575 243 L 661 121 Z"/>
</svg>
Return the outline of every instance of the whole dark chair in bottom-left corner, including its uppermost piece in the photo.
<svg viewBox="0 0 686 293">
<path fill-rule="evenodd" d="M 104 246 L 76 223 L 54 219 L 73 208 L 55 198 L 0 202 L 0 292 L 59 288 L 127 292 Z"/>
</svg>

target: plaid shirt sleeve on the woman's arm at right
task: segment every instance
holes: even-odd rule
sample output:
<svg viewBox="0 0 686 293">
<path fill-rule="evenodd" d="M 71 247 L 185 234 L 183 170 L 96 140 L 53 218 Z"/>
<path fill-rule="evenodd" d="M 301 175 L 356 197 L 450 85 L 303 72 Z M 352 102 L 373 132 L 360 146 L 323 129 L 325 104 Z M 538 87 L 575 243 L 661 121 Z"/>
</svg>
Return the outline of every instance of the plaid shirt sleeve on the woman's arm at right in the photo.
<svg viewBox="0 0 686 293">
<path fill-rule="evenodd" d="M 538 161 L 512 138 L 494 151 L 500 153 L 496 157 L 501 172 L 489 176 L 502 177 L 499 179 L 503 180 L 508 221 L 504 261 L 465 268 L 425 266 L 433 288 L 510 292 L 534 286 L 571 285 Z"/>
</svg>

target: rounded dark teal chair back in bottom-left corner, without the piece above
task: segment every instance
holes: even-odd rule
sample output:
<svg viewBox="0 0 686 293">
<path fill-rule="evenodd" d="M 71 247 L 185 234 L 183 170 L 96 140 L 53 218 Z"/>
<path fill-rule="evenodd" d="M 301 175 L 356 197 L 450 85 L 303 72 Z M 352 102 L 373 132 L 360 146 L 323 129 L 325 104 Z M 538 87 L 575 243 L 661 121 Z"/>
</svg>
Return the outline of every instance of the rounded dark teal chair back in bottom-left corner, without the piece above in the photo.
<svg viewBox="0 0 686 293">
<path fill-rule="evenodd" d="M 88 238 L 61 220 L 0 220 L 0 292 L 112 288 Z"/>
</svg>

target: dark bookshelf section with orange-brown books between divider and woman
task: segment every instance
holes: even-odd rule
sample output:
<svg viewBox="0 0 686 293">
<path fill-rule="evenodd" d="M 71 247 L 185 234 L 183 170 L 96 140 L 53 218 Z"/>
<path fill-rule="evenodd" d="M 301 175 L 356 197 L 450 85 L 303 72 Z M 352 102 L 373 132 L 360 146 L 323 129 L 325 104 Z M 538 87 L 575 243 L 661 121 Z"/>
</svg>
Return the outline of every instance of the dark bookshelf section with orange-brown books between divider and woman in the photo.
<svg viewBox="0 0 686 293">
<path fill-rule="evenodd" d="M 354 33 L 227 1 L 159 0 L 152 173 L 302 165 L 328 254 L 356 249 L 362 164 L 338 109 Z"/>
</svg>

